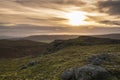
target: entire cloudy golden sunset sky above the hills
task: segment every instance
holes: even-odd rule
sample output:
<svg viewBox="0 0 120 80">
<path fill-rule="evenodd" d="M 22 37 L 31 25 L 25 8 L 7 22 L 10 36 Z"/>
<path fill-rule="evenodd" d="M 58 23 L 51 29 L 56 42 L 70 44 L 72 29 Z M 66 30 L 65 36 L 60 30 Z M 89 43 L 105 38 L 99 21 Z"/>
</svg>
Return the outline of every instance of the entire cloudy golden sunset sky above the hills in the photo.
<svg viewBox="0 0 120 80">
<path fill-rule="evenodd" d="M 0 36 L 120 33 L 120 0 L 0 0 Z"/>
</svg>

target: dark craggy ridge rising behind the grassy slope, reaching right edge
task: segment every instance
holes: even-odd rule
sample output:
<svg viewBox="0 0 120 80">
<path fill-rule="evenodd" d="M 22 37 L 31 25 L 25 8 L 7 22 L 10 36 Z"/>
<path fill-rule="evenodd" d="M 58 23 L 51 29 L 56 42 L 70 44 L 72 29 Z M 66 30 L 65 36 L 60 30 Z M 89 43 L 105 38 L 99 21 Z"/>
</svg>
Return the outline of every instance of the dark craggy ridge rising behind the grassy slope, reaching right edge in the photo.
<svg viewBox="0 0 120 80">
<path fill-rule="evenodd" d="M 75 39 L 69 40 L 55 40 L 48 45 L 46 53 L 53 53 L 69 46 L 91 46 L 91 45 L 104 45 L 104 44 L 120 44 L 120 40 L 109 38 L 97 38 L 91 36 L 80 36 Z"/>
</svg>

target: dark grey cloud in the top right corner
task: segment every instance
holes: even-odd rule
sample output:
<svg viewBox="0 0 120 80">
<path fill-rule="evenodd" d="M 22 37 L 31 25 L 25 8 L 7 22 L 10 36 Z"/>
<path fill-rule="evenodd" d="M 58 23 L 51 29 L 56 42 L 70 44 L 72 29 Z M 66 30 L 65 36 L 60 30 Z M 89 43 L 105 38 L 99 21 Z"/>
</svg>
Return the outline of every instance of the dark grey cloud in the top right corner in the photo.
<svg viewBox="0 0 120 80">
<path fill-rule="evenodd" d="M 101 11 L 120 16 L 120 0 L 107 0 L 98 2 Z"/>
</svg>

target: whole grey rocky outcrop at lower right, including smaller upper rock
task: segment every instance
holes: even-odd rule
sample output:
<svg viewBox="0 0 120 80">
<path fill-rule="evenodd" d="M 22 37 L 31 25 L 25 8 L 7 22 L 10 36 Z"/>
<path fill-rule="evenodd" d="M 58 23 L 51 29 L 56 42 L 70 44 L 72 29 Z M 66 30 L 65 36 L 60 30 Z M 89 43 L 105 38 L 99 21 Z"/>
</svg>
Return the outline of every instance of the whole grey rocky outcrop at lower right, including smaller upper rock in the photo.
<svg viewBox="0 0 120 80">
<path fill-rule="evenodd" d="M 110 73 L 100 65 L 103 62 L 110 61 L 112 57 L 110 54 L 94 55 L 89 58 L 90 64 L 65 70 L 61 78 L 62 80 L 107 80 Z"/>
</svg>

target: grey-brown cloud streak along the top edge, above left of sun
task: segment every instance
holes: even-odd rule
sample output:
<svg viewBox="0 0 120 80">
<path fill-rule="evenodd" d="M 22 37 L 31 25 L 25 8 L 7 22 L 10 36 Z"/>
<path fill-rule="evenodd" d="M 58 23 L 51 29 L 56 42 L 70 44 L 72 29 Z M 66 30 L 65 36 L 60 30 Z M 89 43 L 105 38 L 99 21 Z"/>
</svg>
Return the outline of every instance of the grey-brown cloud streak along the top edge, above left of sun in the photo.
<svg viewBox="0 0 120 80">
<path fill-rule="evenodd" d="M 15 0 L 15 3 L 18 3 L 23 6 L 33 7 L 34 8 L 48 8 L 55 10 L 63 10 L 66 6 L 85 6 L 86 2 L 81 0 Z"/>
</svg>

